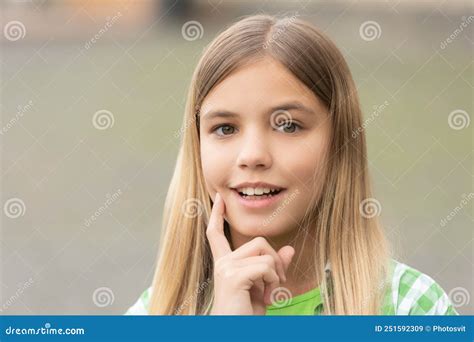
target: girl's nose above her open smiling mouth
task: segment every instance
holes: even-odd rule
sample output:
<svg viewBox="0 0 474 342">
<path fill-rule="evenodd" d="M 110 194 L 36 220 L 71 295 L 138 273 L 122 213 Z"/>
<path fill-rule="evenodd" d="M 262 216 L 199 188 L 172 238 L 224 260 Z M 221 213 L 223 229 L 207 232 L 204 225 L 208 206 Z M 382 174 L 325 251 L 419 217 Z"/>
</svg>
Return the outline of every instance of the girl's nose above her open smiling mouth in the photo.
<svg viewBox="0 0 474 342">
<path fill-rule="evenodd" d="M 258 132 L 243 137 L 237 158 L 239 168 L 268 169 L 272 162 L 270 144 L 264 137 Z"/>
</svg>

